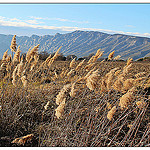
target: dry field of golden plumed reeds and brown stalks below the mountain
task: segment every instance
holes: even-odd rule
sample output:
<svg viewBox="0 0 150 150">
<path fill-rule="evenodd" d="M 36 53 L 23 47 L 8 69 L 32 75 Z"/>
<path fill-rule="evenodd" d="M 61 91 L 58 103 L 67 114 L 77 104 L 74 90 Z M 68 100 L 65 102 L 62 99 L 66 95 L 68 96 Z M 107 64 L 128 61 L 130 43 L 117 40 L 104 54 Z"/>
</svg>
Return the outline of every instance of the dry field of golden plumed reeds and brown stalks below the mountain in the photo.
<svg viewBox="0 0 150 150">
<path fill-rule="evenodd" d="M 150 63 L 45 61 L 38 47 L 0 68 L 0 146 L 149 147 Z M 13 45 L 14 44 L 14 45 Z"/>
</svg>

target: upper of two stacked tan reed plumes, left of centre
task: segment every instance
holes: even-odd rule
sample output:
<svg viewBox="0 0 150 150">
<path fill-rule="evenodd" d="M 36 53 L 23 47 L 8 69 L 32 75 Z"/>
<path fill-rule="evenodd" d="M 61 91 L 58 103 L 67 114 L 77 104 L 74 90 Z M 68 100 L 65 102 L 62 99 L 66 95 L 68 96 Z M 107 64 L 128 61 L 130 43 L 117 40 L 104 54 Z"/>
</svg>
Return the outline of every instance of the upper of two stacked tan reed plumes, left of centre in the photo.
<svg viewBox="0 0 150 150">
<path fill-rule="evenodd" d="M 66 92 L 71 87 L 71 84 L 64 85 L 64 87 L 60 90 L 59 94 L 56 96 L 56 104 L 59 105 L 66 96 Z"/>
</svg>

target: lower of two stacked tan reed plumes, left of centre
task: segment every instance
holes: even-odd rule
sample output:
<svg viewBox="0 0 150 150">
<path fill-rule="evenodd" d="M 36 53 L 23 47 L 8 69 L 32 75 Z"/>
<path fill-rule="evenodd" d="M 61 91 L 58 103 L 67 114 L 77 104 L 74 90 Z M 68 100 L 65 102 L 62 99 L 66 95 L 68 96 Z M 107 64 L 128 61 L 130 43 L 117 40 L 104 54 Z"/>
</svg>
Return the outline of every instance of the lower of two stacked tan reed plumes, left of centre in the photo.
<svg viewBox="0 0 150 150">
<path fill-rule="evenodd" d="M 60 103 L 60 105 L 55 109 L 56 113 L 56 117 L 59 118 L 63 118 L 64 115 L 64 107 L 65 107 L 65 98 L 62 100 L 62 102 Z"/>
</svg>

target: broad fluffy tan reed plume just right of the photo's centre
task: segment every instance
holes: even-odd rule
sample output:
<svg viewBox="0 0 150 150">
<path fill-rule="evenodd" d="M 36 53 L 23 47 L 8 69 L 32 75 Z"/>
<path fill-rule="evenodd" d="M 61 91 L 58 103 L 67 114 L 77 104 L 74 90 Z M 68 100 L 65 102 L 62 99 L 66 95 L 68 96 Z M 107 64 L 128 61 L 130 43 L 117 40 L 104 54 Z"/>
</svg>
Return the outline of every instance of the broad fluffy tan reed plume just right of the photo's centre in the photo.
<svg viewBox="0 0 150 150">
<path fill-rule="evenodd" d="M 86 85 L 90 90 L 94 90 L 98 85 L 99 80 L 99 70 L 97 69 L 94 71 L 87 79 L 86 79 Z"/>
</svg>

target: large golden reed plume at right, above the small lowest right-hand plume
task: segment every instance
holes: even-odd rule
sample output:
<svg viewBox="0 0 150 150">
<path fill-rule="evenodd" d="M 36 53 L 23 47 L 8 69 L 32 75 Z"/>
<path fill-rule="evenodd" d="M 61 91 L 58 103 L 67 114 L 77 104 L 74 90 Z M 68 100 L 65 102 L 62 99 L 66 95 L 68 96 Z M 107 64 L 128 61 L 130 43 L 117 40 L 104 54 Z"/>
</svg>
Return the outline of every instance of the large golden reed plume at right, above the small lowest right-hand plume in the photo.
<svg viewBox="0 0 150 150">
<path fill-rule="evenodd" d="M 119 106 L 121 108 L 128 108 L 129 103 L 133 100 L 134 96 L 133 93 L 136 90 L 135 87 L 132 87 L 130 90 L 128 90 L 128 92 L 126 94 L 124 94 L 121 98 L 120 98 L 120 102 L 119 102 Z"/>
</svg>

